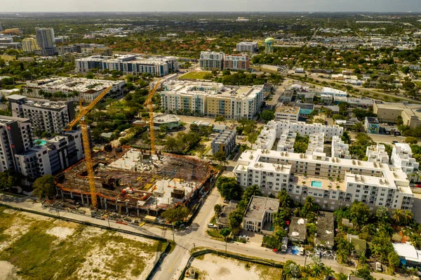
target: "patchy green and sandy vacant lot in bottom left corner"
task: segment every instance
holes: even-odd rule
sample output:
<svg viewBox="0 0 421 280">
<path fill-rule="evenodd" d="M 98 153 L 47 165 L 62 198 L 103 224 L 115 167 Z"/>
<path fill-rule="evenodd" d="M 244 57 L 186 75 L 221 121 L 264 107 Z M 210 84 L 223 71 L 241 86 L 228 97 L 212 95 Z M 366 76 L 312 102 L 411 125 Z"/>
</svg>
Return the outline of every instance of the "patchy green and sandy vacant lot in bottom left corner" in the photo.
<svg viewBox="0 0 421 280">
<path fill-rule="evenodd" d="M 0 207 L 0 280 L 145 279 L 165 245 Z"/>
</svg>

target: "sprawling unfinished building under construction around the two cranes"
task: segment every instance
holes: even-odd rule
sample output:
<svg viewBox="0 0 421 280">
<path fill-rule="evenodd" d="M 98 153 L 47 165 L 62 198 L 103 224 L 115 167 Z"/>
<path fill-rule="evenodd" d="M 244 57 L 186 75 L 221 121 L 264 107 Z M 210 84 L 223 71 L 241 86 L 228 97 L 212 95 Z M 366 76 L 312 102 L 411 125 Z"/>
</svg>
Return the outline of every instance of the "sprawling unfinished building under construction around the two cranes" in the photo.
<svg viewBox="0 0 421 280">
<path fill-rule="evenodd" d="M 206 161 L 128 146 L 96 152 L 93 169 L 98 208 L 126 215 L 159 215 L 178 204 L 192 207 L 213 177 Z M 60 173 L 57 182 L 62 198 L 91 205 L 84 160 Z"/>
</svg>

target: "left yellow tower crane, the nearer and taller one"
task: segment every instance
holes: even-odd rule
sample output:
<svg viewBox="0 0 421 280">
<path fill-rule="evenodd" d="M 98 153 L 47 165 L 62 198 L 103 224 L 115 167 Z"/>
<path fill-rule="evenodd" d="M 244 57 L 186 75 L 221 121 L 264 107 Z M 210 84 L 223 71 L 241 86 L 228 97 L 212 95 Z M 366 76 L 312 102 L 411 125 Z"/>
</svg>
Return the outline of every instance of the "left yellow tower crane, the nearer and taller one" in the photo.
<svg viewBox="0 0 421 280">
<path fill-rule="evenodd" d="M 93 173 L 93 166 L 92 166 L 92 156 L 91 156 L 91 143 L 89 142 L 89 134 L 88 134 L 88 125 L 86 124 L 84 116 L 98 103 L 100 100 L 109 92 L 111 91 L 112 86 L 109 86 L 102 91 L 100 95 L 98 95 L 95 100 L 93 100 L 88 106 L 83 108 L 82 100 L 79 100 L 80 112 L 74 118 L 74 120 L 65 128 L 65 131 L 71 131 L 73 126 L 75 126 L 78 122 L 81 125 L 82 130 L 82 140 L 83 140 L 83 149 L 85 149 L 85 161 L 86 161 L 86 171 L 88 172 L 88 180 L 89 180 L 89 192 L 91 192 L 91 201 L 93 208 L 98 207 L 98 201 L 96 197 L 96 188 L 95 188 L 95 178 Z"/>
</svg>

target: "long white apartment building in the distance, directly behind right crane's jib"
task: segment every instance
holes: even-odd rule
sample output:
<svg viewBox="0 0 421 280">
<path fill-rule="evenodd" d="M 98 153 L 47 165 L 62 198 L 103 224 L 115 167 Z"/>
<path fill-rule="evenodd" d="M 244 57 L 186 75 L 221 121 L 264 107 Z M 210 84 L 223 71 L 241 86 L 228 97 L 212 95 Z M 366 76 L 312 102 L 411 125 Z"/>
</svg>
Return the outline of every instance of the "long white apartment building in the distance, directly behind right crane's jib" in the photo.
<svg viewBox="0 0 421 280">
<path fill-rule="evenodd" d="M 178 71 L 177 58 L 142 57 L 140 55 L 93 55 L 88 58 L 79 58 L 74 61 L 76 72 L 89 72 L 91 69 L 118 70 L 123 73 L 141 74 L 149 73 L 154 76 L 166 76 Z"/>
</svg>

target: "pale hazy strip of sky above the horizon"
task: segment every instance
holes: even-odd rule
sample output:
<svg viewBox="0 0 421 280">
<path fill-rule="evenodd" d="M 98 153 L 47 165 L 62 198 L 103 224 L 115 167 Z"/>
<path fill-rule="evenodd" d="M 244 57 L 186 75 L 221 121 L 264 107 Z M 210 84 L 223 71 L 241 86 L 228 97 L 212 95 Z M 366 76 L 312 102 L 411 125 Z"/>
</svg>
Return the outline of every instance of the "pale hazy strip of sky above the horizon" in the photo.
<svg viewBox="0 0 421 280">
<path fill-rule="evenodd" d="M 0 12 L 372 11 L 421 12 L 421 0 L 1 0 Z"/>
</svg>

